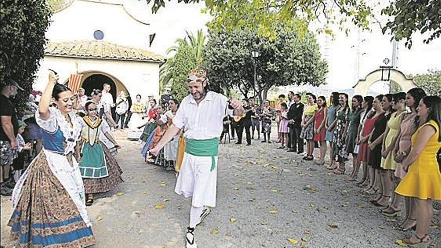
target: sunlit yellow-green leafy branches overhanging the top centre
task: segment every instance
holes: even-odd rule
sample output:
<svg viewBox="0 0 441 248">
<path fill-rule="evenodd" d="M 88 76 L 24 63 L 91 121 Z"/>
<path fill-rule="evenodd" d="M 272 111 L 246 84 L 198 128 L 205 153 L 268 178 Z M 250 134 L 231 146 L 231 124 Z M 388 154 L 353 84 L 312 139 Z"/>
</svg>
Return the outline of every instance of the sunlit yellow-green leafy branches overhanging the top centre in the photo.
<svg viewBox="0 0 441 248">
<path fill-rule="evenodd" d="M 153 2 L 152 12 L 165 7 L 164 0 L 145 0 Z M 201 0 L 178 0 L 183 3 L 199 3 Z M 203 12 L 209 13 L 213 20 L 209 28 L 216 32 L 231 32 L 237 29 L 255 30 L 260 36 L 274 39 L 280 24 L 296 27 L 300 34 L 307 32 L 312 21 L 323 25 L 318 32 L 333 34 L 333 26 L 349 32 L 343 24 L 351 21 L 361 29 L 367 29 L 372 18 L 371 9 L 364 0 L 205 0 Z"/>
</svg>

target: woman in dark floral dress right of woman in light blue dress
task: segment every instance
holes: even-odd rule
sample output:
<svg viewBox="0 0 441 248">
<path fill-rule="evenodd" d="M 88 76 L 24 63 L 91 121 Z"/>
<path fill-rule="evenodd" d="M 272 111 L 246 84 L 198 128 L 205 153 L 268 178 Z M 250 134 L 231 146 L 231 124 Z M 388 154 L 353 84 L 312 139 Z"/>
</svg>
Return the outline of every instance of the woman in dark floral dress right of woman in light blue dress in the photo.
<svg viewBox="0 0 441 248">
<path fill-rule="evenodd" d="M 345 173 L 345 163 L 348 160 L 348 153 L 346 151 L 346 136 L 348 134 L 348 116 L 350 114 L 348 95 L 340 93 L 338 96 L 339 106 L 336 110 L 336 118 L 331 124 L 334 129 L 334 141 L 332 147 L 334 148 L 334 159 L 338 162 L 338 167 L 334 169 L 334 174 L 342 175 Z"/>
</svg>

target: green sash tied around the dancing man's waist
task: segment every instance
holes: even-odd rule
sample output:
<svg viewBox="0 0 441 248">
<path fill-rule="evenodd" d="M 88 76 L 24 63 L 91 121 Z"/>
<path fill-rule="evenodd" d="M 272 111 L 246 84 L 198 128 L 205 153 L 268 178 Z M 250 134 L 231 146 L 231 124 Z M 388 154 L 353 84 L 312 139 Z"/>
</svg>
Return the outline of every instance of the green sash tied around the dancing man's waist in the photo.
<svg viewBox="0 0 441 248">
<path fill-rule="evenodd" d="M 186 139 L 185 152 L 193 156 L 211 157 L 211 169 L 214 170 L 216 163 L 214 157 L 218 154 L 219 139 Z"/>
</svg>

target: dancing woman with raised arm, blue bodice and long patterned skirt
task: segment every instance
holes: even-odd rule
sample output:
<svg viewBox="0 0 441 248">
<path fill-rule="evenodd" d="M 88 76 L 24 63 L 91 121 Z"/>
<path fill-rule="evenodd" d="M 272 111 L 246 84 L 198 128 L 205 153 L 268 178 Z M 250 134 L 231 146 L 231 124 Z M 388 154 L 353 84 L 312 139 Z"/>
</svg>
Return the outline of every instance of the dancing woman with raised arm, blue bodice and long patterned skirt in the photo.
<svg viewBox="0 0 441 248">
<path fill-rule="evenodd" d="M 83 180 L 74 147 L 81 124 L 75 97 L 49 75 L 36 121 L 43 128 L 43 150 L 17 182 L 9 221 L 16 247 L 86 247 L 95 243 L 87 216 Z M 56 107 L 49 107 L 51 100 Z M 78 155 L 78 154 L 77 154 Z"/>
</svg>

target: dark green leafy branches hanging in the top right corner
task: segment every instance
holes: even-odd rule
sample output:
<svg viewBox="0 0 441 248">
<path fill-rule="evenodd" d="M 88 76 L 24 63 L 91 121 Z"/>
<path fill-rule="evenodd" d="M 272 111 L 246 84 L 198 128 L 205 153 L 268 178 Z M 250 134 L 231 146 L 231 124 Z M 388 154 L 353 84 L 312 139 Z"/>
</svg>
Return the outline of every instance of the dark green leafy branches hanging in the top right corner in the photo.
<svg viewBox="0 0 441 248">
<path fill-rule="evenodd" d="M 412 35 L 419 31 L 428 34 L 424 43 L 428 44 L 441 35 L 441 1 L 439 0 L 396 0 L 382 10 L 390 16 L 383 33 L 391 31 L 397 41 L 405 39 L 405 46 L 412 46 Z"/>
</svg>

